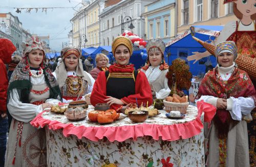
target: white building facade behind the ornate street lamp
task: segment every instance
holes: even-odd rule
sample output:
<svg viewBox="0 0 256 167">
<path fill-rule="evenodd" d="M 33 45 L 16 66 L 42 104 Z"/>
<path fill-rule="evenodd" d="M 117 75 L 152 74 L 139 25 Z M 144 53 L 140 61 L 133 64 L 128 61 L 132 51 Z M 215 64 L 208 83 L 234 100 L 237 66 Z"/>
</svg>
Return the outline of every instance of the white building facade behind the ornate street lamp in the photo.
<svg viewBox="0 0 256 167">
<path fill-rule="evenodd" d="M 144 12 L 144 6 L 152 2 L 154 1 L 123 0 L 115 5 L 106 7 L 99 15 L 101 45 L 111 45 L 114 38 L 122 34 L 122 21 L 124 31 L 129 30 L 144 38 L 142 13 Z M 131 21 L 135 27 L 132 30 L 128 28 L 131 25 Z"/>
</svg>

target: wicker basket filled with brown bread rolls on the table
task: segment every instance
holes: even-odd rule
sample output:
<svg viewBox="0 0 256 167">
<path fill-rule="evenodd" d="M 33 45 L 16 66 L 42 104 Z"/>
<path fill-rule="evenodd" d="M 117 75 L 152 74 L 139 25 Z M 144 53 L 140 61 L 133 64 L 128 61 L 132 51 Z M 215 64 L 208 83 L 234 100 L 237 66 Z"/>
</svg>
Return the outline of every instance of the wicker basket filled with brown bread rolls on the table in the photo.
<svg viewBox="0 0 256 167">
<path fill-rule="evenodd" d="M 180 97 L 178 94 L 173 94 L 173 96 L 168 96 L 163 100 L 165 106 L 165 111 L 180 111 L 181 114 L 185 114 L 187 111 L 188 96 Z"/>
</svg>

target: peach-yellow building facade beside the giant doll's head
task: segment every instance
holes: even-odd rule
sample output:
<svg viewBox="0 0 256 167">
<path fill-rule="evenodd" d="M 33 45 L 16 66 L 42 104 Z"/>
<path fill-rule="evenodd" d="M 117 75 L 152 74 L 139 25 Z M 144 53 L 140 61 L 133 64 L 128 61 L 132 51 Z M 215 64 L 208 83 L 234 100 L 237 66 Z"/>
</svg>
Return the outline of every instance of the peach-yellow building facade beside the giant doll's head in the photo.
<svg viewBox="0 0 256 167">
<path fill-rule="evenodd" d="M 190 26 L 222 26 L 238 18 L 233 14 L 233 3 L 223 5 L 224 0 L 178 0 L 177 35 Z"/>
</svg>

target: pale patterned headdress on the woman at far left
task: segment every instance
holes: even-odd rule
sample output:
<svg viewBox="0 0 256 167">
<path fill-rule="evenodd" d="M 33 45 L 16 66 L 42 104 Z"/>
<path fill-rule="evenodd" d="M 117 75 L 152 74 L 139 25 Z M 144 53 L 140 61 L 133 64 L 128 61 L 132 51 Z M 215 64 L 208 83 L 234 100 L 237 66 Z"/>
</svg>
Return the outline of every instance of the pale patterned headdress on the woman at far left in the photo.
<svg viewBox="0 0 256 167">
<path fill-rule="evenodd" d="M 45 54 L 45 41 L 40 41 L 38 36 L 32 36 L 31 38 L 27 38 L 25 42 L 22 43 L 22 48 L 24 49 L 24 55 L 26 53 L 31 52 L 32 50 L 42 50 Z"/>
</svg>

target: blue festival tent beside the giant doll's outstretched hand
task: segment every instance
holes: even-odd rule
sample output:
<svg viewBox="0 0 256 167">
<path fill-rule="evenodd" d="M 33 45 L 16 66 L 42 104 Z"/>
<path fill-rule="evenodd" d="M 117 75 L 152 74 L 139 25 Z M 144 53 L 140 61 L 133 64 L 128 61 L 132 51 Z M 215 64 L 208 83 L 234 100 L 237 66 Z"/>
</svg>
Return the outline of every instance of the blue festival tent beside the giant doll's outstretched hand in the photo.
<svg viewBox="0 0 256 167">
<path fill-rule="evenodd" d="M 192 33 L 190 29 L 192 30 Z M 206 65 L 211 64 L 215 67 L 217 61 L 214 56 L 203 58 L 195 64 L 193 64 L 194 61 L 187 60 L 187 56 L 193 55 L 192 52 L 202 53 L 206 51 L 200 43 L 192 38 L 192 35 L 203 41 L 209 39 L 214 40 L 219 36 L 223 26 L 193 26 L 190 29 L 166 43 L 166 56 L 164 56 L 164 58 L 169 65 L 172 64 L 172 61 L 176 58 L 184 59 L 189 65 L 191 73 L 193 75 L 199 75 L 200 73 L 205 73 Z"/>
</svg>

